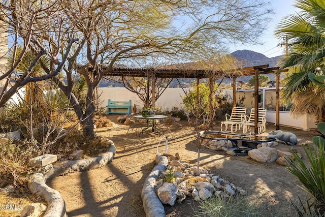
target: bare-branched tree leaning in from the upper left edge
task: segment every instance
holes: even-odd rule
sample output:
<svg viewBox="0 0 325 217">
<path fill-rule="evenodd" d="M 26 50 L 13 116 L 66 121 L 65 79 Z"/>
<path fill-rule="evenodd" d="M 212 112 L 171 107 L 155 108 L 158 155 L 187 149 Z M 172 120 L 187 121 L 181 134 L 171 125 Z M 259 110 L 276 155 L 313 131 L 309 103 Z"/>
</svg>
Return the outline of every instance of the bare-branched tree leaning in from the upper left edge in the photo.
<svg viewBox="0 0 325 217">
<path fill-rule="evenodd" d="M 4 84 L 0 95 L 0 107 L 19 90 L 30 82 L 43 81 L 53 78 L 63 69 L 68 59 L 73 43 L 77 41 L 74 35 L 63 30 L 64 22 L 59 15 L 60 4 L 54 2 L 30 2 L 30 1 L 4 1 L 0 4 L 1 29 L 6 29 L 9 39 L 9 51 L 12 59 L 7 70 L 0 74 L 0 81 Z M 51 27 L 57 26 L 56 33 Z M 55 36 L 55 38 L 54 38 Z M 7 39 L 7 41 L 8 41 Z M 3 40 L 3 39 L 2 39 Z M 18 45 L 21 50 L 17 55 Z M 28 52 L 34 54 L 25 70 L 21 64 Z M 7 53 L 5 54 L 7 56 Z M 45 74 L 34 73 L 38 64 L 42 64 L 42 57 L 47 56 L 50 63 Z"/>
</svg>

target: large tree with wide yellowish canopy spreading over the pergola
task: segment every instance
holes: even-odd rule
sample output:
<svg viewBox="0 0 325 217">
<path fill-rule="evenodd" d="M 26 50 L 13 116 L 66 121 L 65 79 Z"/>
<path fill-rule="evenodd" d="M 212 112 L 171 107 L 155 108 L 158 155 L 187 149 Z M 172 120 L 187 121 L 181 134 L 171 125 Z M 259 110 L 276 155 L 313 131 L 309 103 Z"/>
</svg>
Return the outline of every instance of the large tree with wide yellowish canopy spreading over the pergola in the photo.
<svg viewBox="0 0 325 217">
<path fill-rule="evenodd" d="M 89 136 L 93 136 L 94 90 L 114 65 L 135 67 L 147 58 L 184 63 L 208 58 L 235 42 L 256 43 L 270 13 L 262 0 L 12 0 L 3 3 L 2 9 L 9 12 L 12 29 L 16 29 L 16 20 L 24 18 L 25 27 L 19 28 L 19 34 L 25 33 L 21 39 L 28 42 L 24 44 L 34 48 L 35 53 L 51 57 L 51 67 L 43 67 L 46 78 L 52 77 L 70 99 L 84 134 Z M 43 18 L 41 15 L 47 20 L 27 25 L 26 17 L 34 24 Z M 37 38 L 30 36 L 34 33 Z M 74 36 L 80 40 L 67 59 Z M 50 49 L 45 49 L 44 44 Z M 11 69 L 7 77 L 14 67 Z M 61 69 L 67 74 L 65 83 L 55 76 Z M 75 72 L 87 82 L 85 109 L 72 94 Z M 41 78 L 29 80 L 38 79 Z"/>
</svg>

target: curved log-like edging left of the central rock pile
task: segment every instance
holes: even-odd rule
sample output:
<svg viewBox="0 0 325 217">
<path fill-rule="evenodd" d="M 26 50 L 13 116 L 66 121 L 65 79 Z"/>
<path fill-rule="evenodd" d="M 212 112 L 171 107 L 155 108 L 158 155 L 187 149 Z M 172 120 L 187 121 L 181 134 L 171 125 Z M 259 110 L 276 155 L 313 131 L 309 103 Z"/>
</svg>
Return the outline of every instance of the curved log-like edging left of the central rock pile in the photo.
<svg viewBox="0 0 325 217">
<path fill-rule="evenodd" d="M 141 198 L 143 208 L 147 217 L 166 217 L 164 206 L 160 202 L 154 187 L 158 176 L 168 166 L 168 159 L 166 156 L 157 155 L 155 162 L 157 166 L 152 169 L 142 188 Z"/>
</svg>

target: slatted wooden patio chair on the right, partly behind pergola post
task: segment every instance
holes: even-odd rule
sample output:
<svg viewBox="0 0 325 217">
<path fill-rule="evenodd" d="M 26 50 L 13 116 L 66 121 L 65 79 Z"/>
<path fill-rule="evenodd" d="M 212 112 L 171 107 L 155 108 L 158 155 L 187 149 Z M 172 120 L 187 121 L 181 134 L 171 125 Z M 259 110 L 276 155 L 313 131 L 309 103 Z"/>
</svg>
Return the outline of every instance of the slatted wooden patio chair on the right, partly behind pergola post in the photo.
<svg viewBox="0 0 325 217">
<path fill-rule="evenodd" d="M 266 131 L 266 109 L 258 108 L 258 133 L 263 133 Z M 247 133 L 250 130 L 250 127 L 255 126 L 255 108 L 250 110 L 250 115 L 245 115 L 244 123 L 243 123 L 243 133 Z"/>
</svg>

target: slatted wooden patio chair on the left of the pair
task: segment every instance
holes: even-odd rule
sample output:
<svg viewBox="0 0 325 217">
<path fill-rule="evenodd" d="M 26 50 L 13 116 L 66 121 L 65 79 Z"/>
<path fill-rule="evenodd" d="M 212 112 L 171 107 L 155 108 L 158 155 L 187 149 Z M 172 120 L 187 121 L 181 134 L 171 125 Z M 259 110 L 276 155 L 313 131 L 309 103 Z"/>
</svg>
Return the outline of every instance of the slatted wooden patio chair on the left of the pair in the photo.
<svg viewBox="0 0 325 217">
<path fill-rule="evenodd" d="M 225 126 L 225 130 L 228 130 L 228 126 L 231 127 L 230 131 L 231 133 L 235 133 L 237 131 L 237 126 L 239 130 L 241 129 L 243 122 L 244 122 L 244 116 L 246 115 L 246 108 L 244 107 L 234 107 L 232 110 L 232 114 L 225 114 L 225 121 L 221 122 L 221 130 L 223 131 L 223 125 Z M 234 129 L 235 126 L 235 129 Z"/>
</svg>

